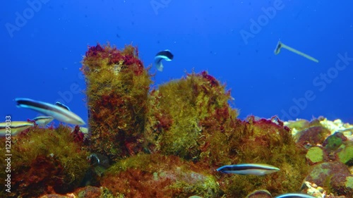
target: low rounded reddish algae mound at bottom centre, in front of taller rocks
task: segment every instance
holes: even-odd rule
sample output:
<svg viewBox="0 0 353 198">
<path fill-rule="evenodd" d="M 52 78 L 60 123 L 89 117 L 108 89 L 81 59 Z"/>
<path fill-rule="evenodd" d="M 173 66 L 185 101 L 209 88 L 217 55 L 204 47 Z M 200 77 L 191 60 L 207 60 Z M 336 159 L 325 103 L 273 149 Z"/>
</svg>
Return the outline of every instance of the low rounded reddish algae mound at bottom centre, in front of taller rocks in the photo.
<svg viewBox="0 0 353 198">
<path fill-rule="evenodd" d="M 109 168 L 102 185 L 121 197 L 220 197 L 215 177 L 177 156 L 143 154 Z"/>
</svg>

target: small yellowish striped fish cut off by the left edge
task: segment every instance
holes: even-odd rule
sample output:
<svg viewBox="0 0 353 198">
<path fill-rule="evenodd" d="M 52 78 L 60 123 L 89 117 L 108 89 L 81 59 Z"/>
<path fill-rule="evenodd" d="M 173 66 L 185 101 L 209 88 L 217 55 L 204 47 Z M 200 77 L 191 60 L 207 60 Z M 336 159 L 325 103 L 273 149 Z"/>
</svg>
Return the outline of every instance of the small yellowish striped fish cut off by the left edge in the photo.
<svg viewBox="0 0 353 198">
<path fill-rule="evenodd" d="M 0 137 L 5 137 L 6 134 L 18 135 L 18 133 L 26 130 L 32 126 L 34 123 L 24 122 L 24 121 L 12 121 L 11 123 L 0 123 Z"/>
</svg>

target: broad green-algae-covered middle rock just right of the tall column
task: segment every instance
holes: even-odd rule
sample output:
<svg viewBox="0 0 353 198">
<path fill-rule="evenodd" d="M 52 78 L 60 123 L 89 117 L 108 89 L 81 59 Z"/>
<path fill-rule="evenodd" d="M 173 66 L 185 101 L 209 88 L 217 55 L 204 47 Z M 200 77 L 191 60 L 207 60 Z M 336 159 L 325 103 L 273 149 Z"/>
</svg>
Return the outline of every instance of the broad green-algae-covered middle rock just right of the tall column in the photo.
<svg viewBox="0 0 353 198">
<path fill-rule="evenodd" d="M 220 109 L 237 117 L 229 99 L 225 85 L 207 73 L 191 73 L 160 85 L 150 94 L 145 138 L 153 144 L 154 151 L 197 160 L 205 144 L 205 125 L 201 122 Z"/>
</svg>

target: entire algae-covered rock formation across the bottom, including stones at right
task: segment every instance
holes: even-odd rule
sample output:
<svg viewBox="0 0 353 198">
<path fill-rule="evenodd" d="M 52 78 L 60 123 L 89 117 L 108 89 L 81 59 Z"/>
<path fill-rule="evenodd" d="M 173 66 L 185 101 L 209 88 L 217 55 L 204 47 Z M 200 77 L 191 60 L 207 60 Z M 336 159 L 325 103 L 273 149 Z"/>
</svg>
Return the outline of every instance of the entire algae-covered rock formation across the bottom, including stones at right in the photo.
<svg viewBox="0 0 353 198">
<path fill-rule="evenodd" d="M 189 73 L 150 91 L 149 69 L 132 46 L 90 47 L 81 70 L 87 83 L 89 142 L 84 144 L 77 131 L 71 133 L 62 126 L 56 130 L 31 128 L 19 136 L 24 141 L 14 145 L 24 163 L 16 161 L 16 170 L 49 168 L 43 168 L 41 174 L 16 172 L 13 185 L 18 194 L 13 197 L 314 193 L 300 189 L 304 179 L 304 184 L 315 182 L 335 195 L 353 192 L 349 173 L 353 149 L 345 138 L 347 131 L 334 134 L 322 118 L 290 123 L 282 123 L 276 116 L 241 120 L 237 109 L 230 106 L 230 91 L 205 71 Z M 54 149 L 52 144 L 57 142 L 61 147 Z M 20 151 L 30 155 L 22 156 Z M 267 163 L 280 171 L 263 176 L 216 171 L 236 163 Z M 49 179 L 49 175 L 54 177 Z M 22 177 L 25 179 L 20 180 Z"/>
</svg>

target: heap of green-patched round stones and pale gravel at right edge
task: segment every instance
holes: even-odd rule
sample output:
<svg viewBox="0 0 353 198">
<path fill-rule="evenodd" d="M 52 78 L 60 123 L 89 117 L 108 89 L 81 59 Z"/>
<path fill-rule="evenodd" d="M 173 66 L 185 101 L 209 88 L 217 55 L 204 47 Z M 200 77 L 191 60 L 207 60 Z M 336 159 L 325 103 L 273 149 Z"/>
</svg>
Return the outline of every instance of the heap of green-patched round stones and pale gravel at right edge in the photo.
<svg viewBox="0 0 353 198">
<path fill-rule="evenodd" d="M 353 166 L 352 125 L 322 117 L 297 121 L 285 125 L 296 131 L 295 137 L 301 140 L 297 143 L 307 149 L 306 159 L 312 166 L 302 186 L 312 182 L 321 186 L 329 197 L 352 197 L 353 172 L 349 171 Z"/>
</svg>

